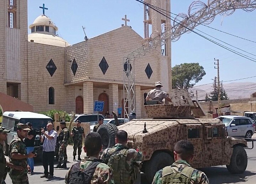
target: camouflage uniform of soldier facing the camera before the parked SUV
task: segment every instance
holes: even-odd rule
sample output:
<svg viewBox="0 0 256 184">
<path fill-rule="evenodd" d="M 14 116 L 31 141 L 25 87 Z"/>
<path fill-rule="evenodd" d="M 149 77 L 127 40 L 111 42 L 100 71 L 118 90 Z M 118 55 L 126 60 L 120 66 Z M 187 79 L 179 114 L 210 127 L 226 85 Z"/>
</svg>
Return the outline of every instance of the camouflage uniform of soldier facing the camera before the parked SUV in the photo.
<svg viewBox="0 0 256 184">
<path fill-rule="evenodd" d="M 78 149 L 77 154 L 81 155 L 84 128 L 83 127 L 73 127 L 71 132 L 74 134 L 74 136 L 73 136 L 73 143 L 74 143 L 73 156 L 76 156 L 76 149 Z"/>
</svg>

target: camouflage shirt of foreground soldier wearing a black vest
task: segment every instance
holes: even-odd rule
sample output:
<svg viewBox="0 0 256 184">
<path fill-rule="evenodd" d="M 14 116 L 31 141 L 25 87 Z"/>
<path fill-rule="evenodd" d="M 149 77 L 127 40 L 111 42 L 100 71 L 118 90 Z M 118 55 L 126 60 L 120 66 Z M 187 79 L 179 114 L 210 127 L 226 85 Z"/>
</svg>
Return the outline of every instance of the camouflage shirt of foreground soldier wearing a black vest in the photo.
<svg viewBox="0 0 256 184">
<path fill-rule="evenodd" d="M 97 158 L 84 157 L 80 164 L 80 169 L 81 169 L 80 171 L 83 172 L 92 163 L 94 159 L 97 159 Z M 69 168 L 68 173 L 66 174 L 66 177 L 65 177 L 66 184 L 68 184 L 72 167 L 73 166 Z M 91 184 L 100 184 L 103 182 L 104 184 L 114 184 L 114 180 L 113 180 L 113 176 L 110 168 L 106 164 L 100 163 L 99 165 L 97 165 L 95 169 L 95 172 L 92 176 Z"/>
</svg>

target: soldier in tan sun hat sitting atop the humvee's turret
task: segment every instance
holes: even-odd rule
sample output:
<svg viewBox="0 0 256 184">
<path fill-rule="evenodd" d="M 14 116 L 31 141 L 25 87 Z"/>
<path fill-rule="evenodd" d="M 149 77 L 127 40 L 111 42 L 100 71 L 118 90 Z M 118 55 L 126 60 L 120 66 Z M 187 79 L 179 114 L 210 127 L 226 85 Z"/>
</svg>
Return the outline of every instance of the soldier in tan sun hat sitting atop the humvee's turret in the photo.
<svg viewBox="0 0 256 184">
<path fill-rule="evenodd" d="M 146 101 L 149 99 L 151 100 L 158 100 L 159 102 L 163 103 L 163 99 L 168 100 L 169 102 L 172 102 L 172 99 L 170 99 L 166 92 L 161 90 L 162 83 L 160 81 L 156 81 L 155 85 L 156 89 L 152 89 L 148 96 L 146 97 Z"/>
</svg>

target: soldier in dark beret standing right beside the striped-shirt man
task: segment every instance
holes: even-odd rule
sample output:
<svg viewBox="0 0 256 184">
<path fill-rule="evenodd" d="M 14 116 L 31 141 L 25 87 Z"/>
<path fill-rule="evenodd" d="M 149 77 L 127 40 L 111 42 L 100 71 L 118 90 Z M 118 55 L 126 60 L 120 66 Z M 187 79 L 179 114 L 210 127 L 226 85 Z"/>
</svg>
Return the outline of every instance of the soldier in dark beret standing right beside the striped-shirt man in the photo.
<svg viewBox="0 0 256 184">
<path fill-rule="evenodd" d="M 67 156 L 67 146 L 68 146 L 68 139 L 69 139 L 69 130 L 66 127 L 66 122 L 62 121 L 60 122 L 60 128 L 62 129 L 60 134 L 59 134 L 59 162 L 58 165 L 55 166 L 54 168 L 67 168 L 67 161 L 68 161 L 68 156 Z M 61 165 L 61 161 L 64 159 L 63 164 Z"/>
</svg>

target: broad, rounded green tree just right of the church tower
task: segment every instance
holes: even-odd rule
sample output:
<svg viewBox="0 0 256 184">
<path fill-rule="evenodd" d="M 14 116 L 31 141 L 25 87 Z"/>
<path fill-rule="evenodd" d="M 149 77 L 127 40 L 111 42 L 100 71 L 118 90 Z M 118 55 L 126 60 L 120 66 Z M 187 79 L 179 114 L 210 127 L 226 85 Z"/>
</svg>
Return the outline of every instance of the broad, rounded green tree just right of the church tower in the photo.
<svg viewBox="0 0 256 184">
<path fill-rule="evenodd" d="M 202 80 L 204 67 L 199 63 L 183 63 L 172 68 L 172 88 L 188 89 Z"/>
</svg>

